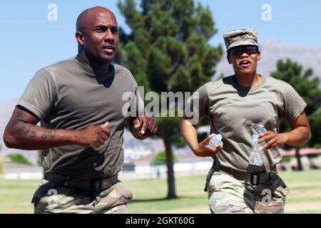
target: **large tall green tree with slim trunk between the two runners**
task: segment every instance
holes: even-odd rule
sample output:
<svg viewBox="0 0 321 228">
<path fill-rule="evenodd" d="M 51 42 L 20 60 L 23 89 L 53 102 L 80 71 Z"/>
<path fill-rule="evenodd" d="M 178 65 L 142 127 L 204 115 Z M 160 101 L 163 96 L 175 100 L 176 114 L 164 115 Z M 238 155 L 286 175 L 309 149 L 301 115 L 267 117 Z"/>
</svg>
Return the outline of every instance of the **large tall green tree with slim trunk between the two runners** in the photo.
<svg viewBox="0 0 321 228">
<path fill-rule="evenodd" d="M 121 29 L 116 62 L 129 68 L 146 92 L 193 92 L 211 80 L 223 49 L 208 44 L 217 33 L 208 7 L 193 0 L 141 0 L 138 9 L 136 1 L 123 0 L 118 8 L 131 32 Z M 167 197 L 175 198 L 172 146 L 183 145 L 179 118 L 157 121 L 168 167 Z"/>
</svg>

